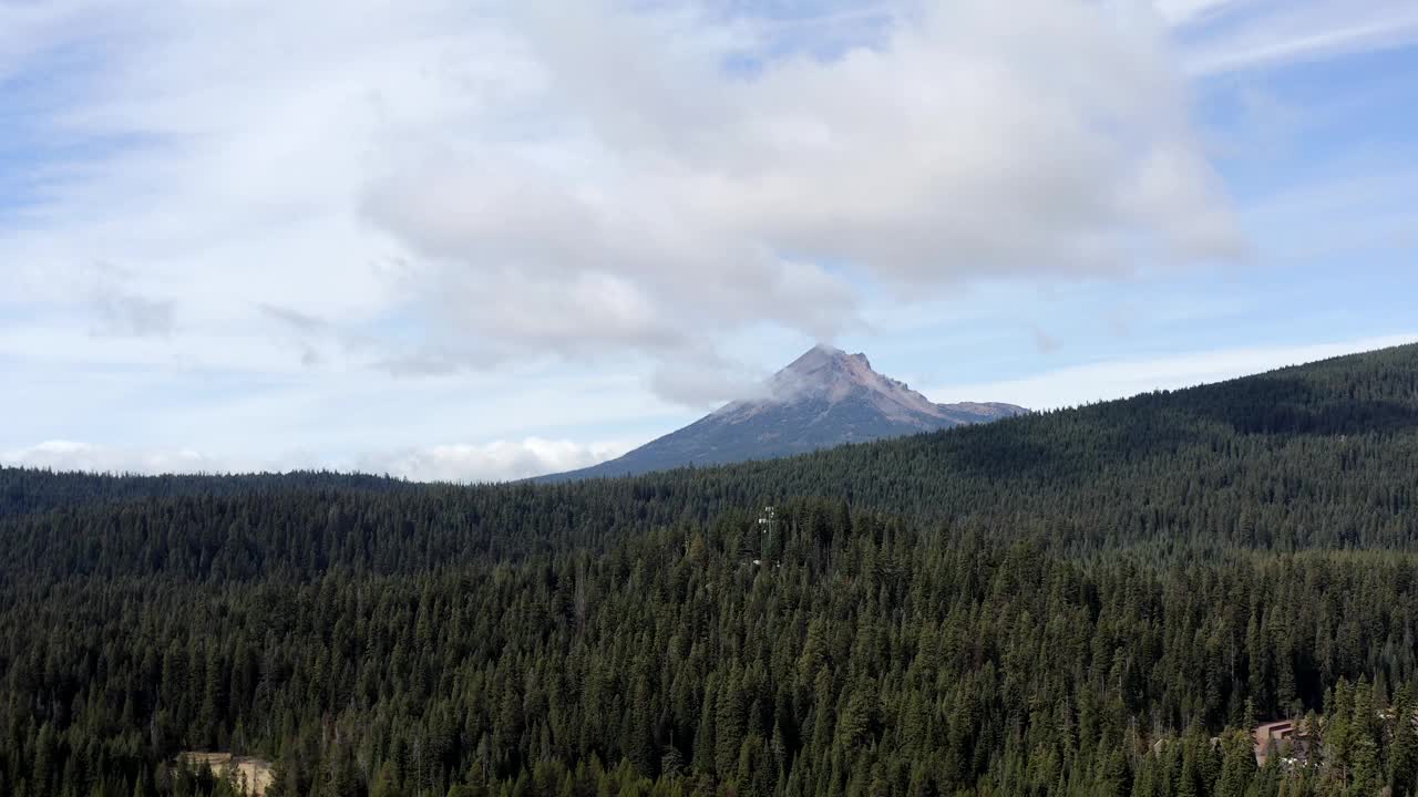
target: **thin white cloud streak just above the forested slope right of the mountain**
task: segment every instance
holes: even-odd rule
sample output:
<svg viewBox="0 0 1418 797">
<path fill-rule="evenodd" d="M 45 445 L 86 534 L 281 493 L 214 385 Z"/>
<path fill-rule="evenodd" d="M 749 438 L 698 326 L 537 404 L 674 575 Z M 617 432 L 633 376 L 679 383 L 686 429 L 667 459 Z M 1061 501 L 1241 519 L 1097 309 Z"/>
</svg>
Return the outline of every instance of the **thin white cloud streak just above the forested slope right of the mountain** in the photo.
<svg viewBox="0 0 1418 797">
<path fill-rule="evenodd" d="M 1075 407 L 1089 401 L 1124 398 L 1149 390 L 1176 390 L 1398 346 L 1418 340 L 1418 333 L 1366 338 L 1307 346 L 1261 346 L 1168 355 L 1149 360 L 1112 360 L 1056 369 L 1024 379 L 976 384 L 950 384 L 923 390 L 933 401 L 1008 401 L 1031 410 Z"/>
</svg>

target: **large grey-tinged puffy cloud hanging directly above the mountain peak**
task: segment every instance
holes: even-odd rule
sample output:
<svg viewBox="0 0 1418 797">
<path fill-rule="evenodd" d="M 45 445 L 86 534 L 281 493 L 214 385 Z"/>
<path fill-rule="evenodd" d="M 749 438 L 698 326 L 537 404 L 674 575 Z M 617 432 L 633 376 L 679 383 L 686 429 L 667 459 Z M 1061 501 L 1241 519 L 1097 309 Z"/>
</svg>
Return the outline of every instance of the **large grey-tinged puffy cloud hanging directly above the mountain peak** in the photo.
<svg viewBox="0 0 1418 797">
<path fill-rule="evenodd" d="M 735 72 L 752 28 L 533 7 L 506 31 L 519 91 L 498 87 L 478 135 L 403 138 L 363 208 L 492 362 L 668 357 L 754 323 L 832 338 L 864 284 L 1229 260 L 1244 243 L 1163 33 L 1103 4 L 963 0 Z M 546 132 L 502 139 L 508 115 Z"/>
</svg>

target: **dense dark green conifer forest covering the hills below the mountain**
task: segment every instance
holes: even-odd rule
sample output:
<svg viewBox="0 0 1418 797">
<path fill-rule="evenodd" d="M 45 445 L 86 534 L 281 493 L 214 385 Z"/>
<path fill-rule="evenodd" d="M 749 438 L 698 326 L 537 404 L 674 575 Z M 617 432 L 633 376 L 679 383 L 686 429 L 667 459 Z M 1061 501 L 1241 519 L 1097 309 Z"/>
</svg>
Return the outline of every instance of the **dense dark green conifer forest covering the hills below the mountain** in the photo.
<svg viewBox="0 0 1418 797">
<path fill-rule="evenodd" d="M 1414 346 L 634 479 L 0 469 L 0 793 L 1408 794 L 1415 494 Z"/>
</svg>

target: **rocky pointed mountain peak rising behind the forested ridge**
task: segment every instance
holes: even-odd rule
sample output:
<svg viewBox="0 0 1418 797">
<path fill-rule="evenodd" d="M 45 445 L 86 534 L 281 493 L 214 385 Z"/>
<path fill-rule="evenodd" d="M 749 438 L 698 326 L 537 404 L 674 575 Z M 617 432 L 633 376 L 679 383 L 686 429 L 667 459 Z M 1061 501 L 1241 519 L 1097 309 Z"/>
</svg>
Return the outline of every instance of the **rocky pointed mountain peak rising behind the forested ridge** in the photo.
<svg viewBox="0 0 1418 797">
<path fill-rule="evenodd" d="M 1000 403 L 933 404 L 905 383 L 872 370 L 866 355 L 814 346 L 773 374 L 754 398 L 725 404 L 617 459 L 546 479 L 623 476 L 691 464 L 769 459 L 1027 411 Z"/>
</svg>

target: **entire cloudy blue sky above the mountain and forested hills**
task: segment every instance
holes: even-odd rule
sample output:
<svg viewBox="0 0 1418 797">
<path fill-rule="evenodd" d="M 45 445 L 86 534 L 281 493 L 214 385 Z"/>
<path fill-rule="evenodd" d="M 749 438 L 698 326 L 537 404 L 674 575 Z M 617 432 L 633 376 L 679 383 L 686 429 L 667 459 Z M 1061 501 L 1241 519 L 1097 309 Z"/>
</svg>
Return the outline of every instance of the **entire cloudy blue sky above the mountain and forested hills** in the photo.
<svg viewBox="0 0 1418 797">
<path fill-rule="evenodd" d="M 0 0 L 0 464 L 522 478 L 818 342 L 1073 406 L 1415 261 L 1412 0 Z"/>
</svg>

